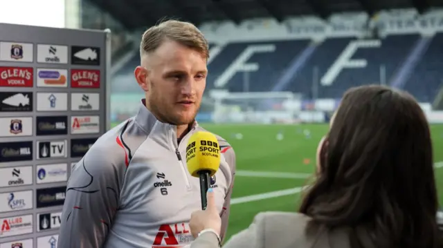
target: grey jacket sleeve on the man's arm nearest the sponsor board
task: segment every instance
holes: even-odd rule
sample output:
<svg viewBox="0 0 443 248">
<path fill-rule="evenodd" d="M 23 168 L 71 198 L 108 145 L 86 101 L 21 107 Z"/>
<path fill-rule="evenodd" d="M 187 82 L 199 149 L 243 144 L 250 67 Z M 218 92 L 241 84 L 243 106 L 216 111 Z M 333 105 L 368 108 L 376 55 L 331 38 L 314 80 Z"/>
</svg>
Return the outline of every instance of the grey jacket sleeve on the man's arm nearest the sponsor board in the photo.
<svg viewBox="0 0 443 248">
<path fill-rule="evenodd" d="M 118 209 L 123 169 L 91 148 L 75 164 L 66 188 L 57 247 L 100 248 Z"/>
</svg>

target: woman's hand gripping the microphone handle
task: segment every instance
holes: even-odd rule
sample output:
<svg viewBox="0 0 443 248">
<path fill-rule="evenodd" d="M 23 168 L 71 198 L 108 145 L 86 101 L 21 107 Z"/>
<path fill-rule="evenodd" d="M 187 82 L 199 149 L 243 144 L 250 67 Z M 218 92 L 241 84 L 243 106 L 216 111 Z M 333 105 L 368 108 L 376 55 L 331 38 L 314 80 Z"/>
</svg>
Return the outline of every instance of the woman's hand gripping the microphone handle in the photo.
<svg viewBox="0 0 443 248">
<path fill-rule="evenodd" d="M 215 193 L 213 189 L 209 189 L 206 195 L 208 198 L 206 210 L 195 211 L 191 214 L 189 227 L 194 238 L 197 238 L 200 231 L 204 229 L 214 229 L 217 234 L 220 234 L 221 218 L 215 205 Z"/>
</svg>

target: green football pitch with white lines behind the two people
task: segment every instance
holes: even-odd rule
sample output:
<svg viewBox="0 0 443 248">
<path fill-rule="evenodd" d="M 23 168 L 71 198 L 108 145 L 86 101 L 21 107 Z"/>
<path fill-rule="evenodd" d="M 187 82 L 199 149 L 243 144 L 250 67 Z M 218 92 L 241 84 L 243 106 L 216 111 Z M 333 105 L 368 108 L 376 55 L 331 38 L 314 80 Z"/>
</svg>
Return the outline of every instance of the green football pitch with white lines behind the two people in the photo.
<svg viewBox="0 0 443 248">
<path fill-rule="evenodd" d="M 228 238 L 248 227 L 260 211 L 296 211 L 300 187 L 314 172 L 319 140 L 327 124 L 201 124 L 235 149 L 237 175 Z M 435 176 L 443 202 L 443 125 L 432 125 Z"/>
</svg>

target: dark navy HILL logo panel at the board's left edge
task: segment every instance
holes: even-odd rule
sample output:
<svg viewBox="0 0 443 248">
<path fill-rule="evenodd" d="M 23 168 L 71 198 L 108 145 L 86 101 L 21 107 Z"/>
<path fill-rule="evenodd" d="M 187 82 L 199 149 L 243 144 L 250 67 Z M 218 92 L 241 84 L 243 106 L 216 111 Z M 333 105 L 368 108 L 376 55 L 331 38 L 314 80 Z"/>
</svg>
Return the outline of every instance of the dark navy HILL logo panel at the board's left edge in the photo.
<svg viewBox="0 0 443 248">
<path fill-rule="evenodd" d="M 0 162 L 33 160 L 33 142 L 1 142 Z"/>
</svg>

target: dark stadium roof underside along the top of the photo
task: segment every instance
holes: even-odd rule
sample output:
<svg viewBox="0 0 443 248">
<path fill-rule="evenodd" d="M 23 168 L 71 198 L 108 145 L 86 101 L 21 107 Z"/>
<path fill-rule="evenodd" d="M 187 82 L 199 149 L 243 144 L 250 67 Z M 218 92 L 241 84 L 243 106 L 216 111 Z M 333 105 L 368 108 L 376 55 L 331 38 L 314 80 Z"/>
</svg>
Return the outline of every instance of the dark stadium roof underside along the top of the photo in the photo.
<svg viewBox="0 0 443 248">
<path fill-rule="evenodd" d="M 327 18 L 336 12 L 416 8 L 424 12 L 443 6 L 441 0 L 90 0 L 118 19 L 129 30 L 152 26 L 163 17 L 196 25 L 204 21 L 273 17 L 278 21 L 299 15 Z"/>
</svg>

